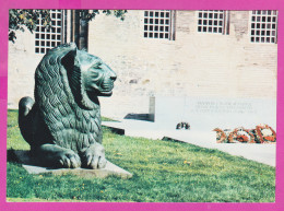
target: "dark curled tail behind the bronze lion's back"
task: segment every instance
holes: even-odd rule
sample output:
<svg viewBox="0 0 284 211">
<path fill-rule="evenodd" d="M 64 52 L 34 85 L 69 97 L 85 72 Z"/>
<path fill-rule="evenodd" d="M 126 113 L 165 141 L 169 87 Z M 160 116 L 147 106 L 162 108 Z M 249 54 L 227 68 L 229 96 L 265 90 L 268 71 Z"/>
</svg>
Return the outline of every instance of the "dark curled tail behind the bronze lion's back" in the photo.
<svg viewBox="0 0 284 211">
<path fill-rule="evenodd" d="M 19 128 L 27 143 L 33 142 L 33 119 L 35 101 L 28 96 L 19 102 Z M 34 108 L 34 109 L 33 109 Z"/>
</svg>

